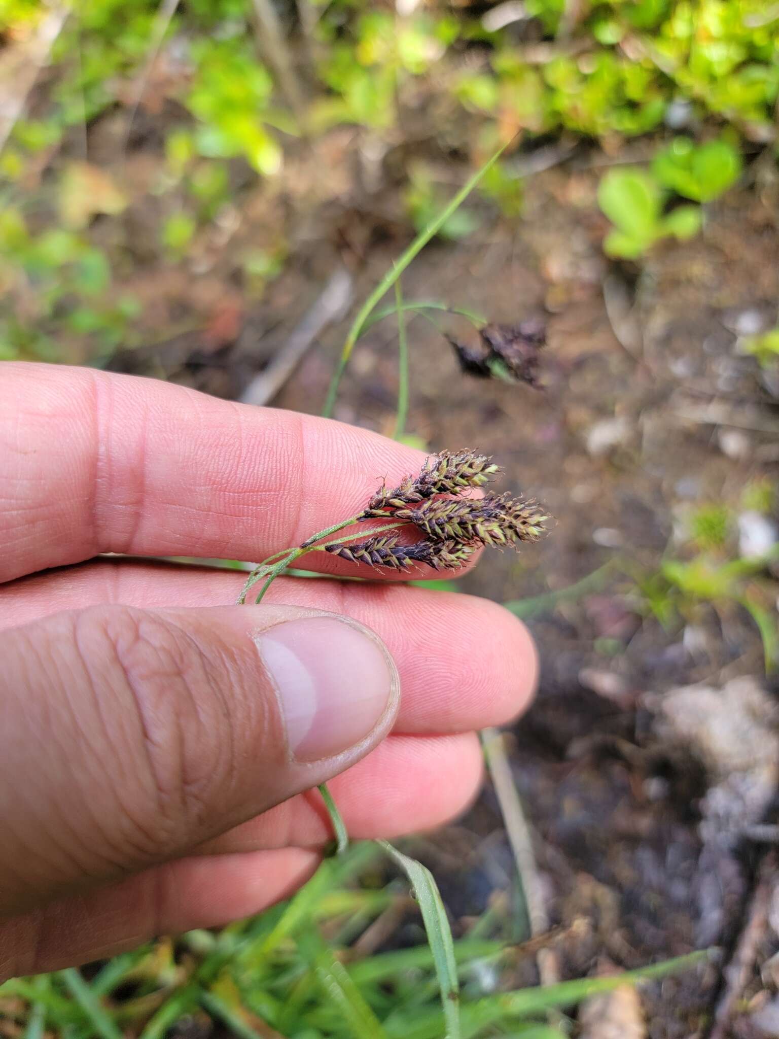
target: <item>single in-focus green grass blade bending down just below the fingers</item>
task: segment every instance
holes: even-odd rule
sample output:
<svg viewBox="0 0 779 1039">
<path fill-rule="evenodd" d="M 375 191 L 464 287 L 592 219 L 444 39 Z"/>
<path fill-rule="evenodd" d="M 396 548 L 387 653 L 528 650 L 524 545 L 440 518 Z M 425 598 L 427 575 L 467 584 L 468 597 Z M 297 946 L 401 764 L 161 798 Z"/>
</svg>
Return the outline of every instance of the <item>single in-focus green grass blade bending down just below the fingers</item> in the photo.
<svg viewBox="0 0 779 1039">
<path fill-rule="evenodd" d="M 460 982 L 457 977 L 457 961 L 452 929 L 435 879 L 427 867 L 402 854 L 387 841 L 377 841 L 376 844 L 398 863 L 413 885 L 438 978 L 447 1039 L 460 1039 Z"/>
</svg>

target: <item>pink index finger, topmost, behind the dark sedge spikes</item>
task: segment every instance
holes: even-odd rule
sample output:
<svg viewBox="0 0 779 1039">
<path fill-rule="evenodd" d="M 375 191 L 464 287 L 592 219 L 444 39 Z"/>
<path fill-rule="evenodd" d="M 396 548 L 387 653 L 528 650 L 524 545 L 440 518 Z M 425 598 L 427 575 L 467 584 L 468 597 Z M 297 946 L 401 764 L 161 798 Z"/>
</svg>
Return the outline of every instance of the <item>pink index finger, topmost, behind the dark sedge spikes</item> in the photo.
<svg viewBox="0 0 779 1039">
<path fill-rule="evenodd" d="M 369 430 L 153 379 L 8 362 L 0 383 L 0 581 L 104 552 L 261 560 L 425 460 Z"/>
</svg>

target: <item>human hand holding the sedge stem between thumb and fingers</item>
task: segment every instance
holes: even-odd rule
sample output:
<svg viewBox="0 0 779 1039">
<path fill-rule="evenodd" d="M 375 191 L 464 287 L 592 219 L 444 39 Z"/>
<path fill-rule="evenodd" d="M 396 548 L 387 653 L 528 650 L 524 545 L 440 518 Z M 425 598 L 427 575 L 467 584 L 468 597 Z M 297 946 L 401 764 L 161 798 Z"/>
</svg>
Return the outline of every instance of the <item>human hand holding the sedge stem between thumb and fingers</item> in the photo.
<svg viewBox="0 0 779 1039">
<path fill-rule="evenodd" d="M 0 980 L 288 896 L 329 840 L 312 790 L 331 777 L 357 838 L 474 797 L 474 730 L 535 684 L 502 607 L 397 575 L 223 606 L 242 575 L 93 559 L 264 558 L 423 460 L 180 387 L 0 366 Z"/>
</svg>

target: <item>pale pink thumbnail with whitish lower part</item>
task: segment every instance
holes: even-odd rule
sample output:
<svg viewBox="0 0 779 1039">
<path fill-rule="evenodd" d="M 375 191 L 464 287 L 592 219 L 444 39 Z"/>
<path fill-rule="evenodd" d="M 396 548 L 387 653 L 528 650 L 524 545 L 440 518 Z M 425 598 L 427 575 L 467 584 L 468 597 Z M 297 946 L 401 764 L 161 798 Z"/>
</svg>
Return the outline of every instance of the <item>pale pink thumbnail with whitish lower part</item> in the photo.
<svg viewBox="0 0 779 1039">
<path fill-rule="evenodd" d="M 337 617 L 287 620 L 256 636 L 291 755 L 314 762 L 369 736 L 394 699 L 395 664 L 376 636 Z"/>
</svg>

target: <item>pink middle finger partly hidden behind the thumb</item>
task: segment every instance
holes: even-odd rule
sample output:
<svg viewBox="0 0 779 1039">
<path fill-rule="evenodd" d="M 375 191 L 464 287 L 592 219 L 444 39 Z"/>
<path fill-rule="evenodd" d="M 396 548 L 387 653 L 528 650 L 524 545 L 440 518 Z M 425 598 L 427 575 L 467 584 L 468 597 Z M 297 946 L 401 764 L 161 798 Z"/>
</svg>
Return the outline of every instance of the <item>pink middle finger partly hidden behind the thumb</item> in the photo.
<svg viewBox="0 0 779 1039">
<path fill-rule="evenodd" d="M 86 563 L 5 585 L 0 630 L 99 603 L 220 605 L 235 598 L 241 581 L 234 572 L 198 567 Z M 396 732 L 463 732 L 505 724 L 525 710 L 535 688 L 537 657 L 527 629 L 485 600 L 400 584 L 279 579 L 268 602 L 343 613 L 382 638 L 401 674 Z M 496 651 L 485 654 L 485 645 Z"/>
</svg>

